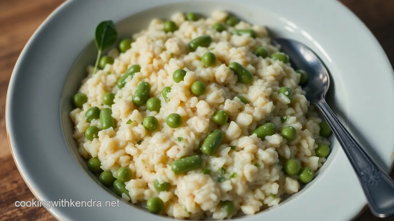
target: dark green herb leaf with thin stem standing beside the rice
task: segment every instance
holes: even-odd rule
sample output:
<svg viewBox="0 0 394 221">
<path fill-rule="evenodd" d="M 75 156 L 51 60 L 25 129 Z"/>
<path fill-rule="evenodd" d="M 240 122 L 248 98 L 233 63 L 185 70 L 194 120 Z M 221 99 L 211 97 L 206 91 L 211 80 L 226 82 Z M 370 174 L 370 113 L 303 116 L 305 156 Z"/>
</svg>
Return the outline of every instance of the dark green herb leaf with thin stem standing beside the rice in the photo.
<svg viewBox="0 0 394 221">
<path fill-rule="evenodd" d="M 102 21 L 99 25 L 97 25 L 95 31 L 95 43 L 98 53 L 93 73 L 96 73 L 97 71 L 101 52 L 111 47 L 116 42 L 117 37 L 118 33 L 113 21 Z"/>
</svg>

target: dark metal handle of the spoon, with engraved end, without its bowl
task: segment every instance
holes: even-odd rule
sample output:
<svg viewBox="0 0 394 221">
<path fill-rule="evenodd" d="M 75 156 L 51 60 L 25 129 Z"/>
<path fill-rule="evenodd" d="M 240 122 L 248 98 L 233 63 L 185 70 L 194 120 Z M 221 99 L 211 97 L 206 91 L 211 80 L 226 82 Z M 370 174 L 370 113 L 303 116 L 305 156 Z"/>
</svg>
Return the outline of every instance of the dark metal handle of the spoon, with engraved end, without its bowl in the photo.
<svg viewBox="0 0 394 221">
<path fill-rule="evenodd" d="M 375 216 L 394 214 L 394 181 L 365 152 L 349 131 L 336 118 L 324 99 L 315 103 L 330 125 L 353 169 L 359 177 L 369 207 Z"/>
</svg>

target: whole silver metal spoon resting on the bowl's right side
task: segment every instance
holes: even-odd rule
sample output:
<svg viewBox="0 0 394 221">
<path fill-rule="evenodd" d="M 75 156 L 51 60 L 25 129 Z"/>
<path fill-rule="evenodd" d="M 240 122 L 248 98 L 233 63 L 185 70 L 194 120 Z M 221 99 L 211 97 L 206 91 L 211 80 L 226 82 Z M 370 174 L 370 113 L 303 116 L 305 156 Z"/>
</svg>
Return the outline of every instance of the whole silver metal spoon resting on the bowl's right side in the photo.
<svg viewBox="0 0 394 221">
<path fill-rule="evenodd" d="M 361 148 L 327 105 L 325 94 L 330 79 L 323 62 L 312 50 L 298 41 L 276 38 L 273 43 L 282 46 L 282 51 L 290 56 L 290 61 L 295 67 L 307 72 L 308 82 L 304 88 L 307 92 L 306 97 L 322 113 L 348 156 L 359 177 L 372 214 L 378 217 L 393 215 L 394 181 Z"/>
</svg>

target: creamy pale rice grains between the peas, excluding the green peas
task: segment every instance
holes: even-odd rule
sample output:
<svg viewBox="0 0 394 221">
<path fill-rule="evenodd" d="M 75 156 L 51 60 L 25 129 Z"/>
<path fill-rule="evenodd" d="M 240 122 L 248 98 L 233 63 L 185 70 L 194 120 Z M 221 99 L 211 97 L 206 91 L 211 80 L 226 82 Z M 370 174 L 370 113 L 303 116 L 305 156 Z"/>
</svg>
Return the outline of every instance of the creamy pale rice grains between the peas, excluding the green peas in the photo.
<svg viewBox="0 0 394 221">
<path fill-rule="evenodd" d="M 87 67 L 88 75 L 79 90 L 87 96 L 87 102 L 70 113 L 75 124 L 73 137 L 83 157 L 98 157 L 101 168 L 111 171 L 114 177 L 120 167 L 132 171 L 132 180 L 125 183 L 130 197 L 123 194 L 123 199 L 135 204 L 159 197 L 164 202 L 160 214 L 180 219 L 201 219 L 204 215 L 224 219 L 240 211 L 250 215 L 279 204 L 284 194 L 299 190 L 297 176 L 282 171 L 281 165 L 286 159 L 299 159 L 301 166 L 314 171 L 325 161 L 324 157 L 316 157 L 314 149 L 317 143 L 329 145 L 329 142 L 319 136 L 322 120 L 298 85 L 300 75 L 290 64 L 253 53 L 257 47 L 265 47 L 269 54 L 279 51 L 271 45 L 264 27 L 241 21 L 223 32 L 211 28 L 216 22 L 224 22 L 227 16 L 225 11 L 214 11 L 211 17 L 185 21 L 182 13 L 175 13 L 171 20 L 178 30 L 173 33 L 165 33 L 163 21 L 153 19 L 146 30 L 133 35 L 131 49 L 125 53 L 112 49 L 108 53 L 115 59 L 112 65 L 107 64 L 95 74 L 93 67 Z M 243 28 L 253 29 L 257 37 L 230 34 L 234 29 Z M 190 40 L 202 35 L 212 37 L 210 46 L 190 52 Z M 217 62 L 205 67 L 201 56 L 208 51 L 216 55 Z M 254 81 L 251 84 L 237 82 L 237 76 L 227 67 L 230 62 L 238 62 L 249 70 Z M 133 64 L 139 64 L 141 71 L 119 89 L 117 80 Z M 184 81 L 179 83 L 172 78 L 177 69 L 187 71 Z M 140 81 L 151 84 L 149 97 L 161 100 L 160 112 L 133 104 L 132 95 Z M 195 81 L 206 84 L 204 95 L 191 94 L 190 87 Z M 171 86 L 168 102 L 161 95 L 165 86 Z M 278 94 L 281 86 L 292 90 L 291 103 L 286 96 Z M 102 104 L 106 92 L 115 94 L 112 106 Z M 246 97 L 249 104 L 243 104 L 235 96 Z M 90 141 L 84 135 L 87 127 L 100 128 L 99 119 L 91 122 L 85 119 L 85 112 L 93 106 L 111 108 L 116 126 L 101 130 L 98 138 Z M 221 127 L 214 124 L 211 116 L 216 110 L 226 111 L 229 123 Z M 173 129 L 166 124 L 165 119 L 171 113 L 182 116 L 182 126 Z M 158 129 L 147 131 L 142 125 L 145 116 L 155 116 Z M 288 116 L 288 120 L 282 123 L 281 116 Z M 129 120 L 132 123 L 126 124 Z M 276 134 L 264 140 L 256 134 L 250 135 L 268 121 L 276 126 Z M 297 131 L 296 139 L 291 142 L 281 136 L 281 128 L 286 125 Z M 200 144 L 216 128 L 224 133 L 219 150 L 212 156 L 201 154 Z M 183 139 L 178 141 L 178 137 Z M 171 163 L 193 154 L 202 155 L 203 168 L 210 169 L 210 175 L 203 174 L 201 169 L 174 174 Z M 223 182 L 218 181 L 221 168 L 225 169 Z M 170 183 L 171 189 L 156 191 L 155 180 Z M 224 200 L 233 202 L 233 214 L 227 215 L 220 209 L 219 202 Z"/>
</svg>

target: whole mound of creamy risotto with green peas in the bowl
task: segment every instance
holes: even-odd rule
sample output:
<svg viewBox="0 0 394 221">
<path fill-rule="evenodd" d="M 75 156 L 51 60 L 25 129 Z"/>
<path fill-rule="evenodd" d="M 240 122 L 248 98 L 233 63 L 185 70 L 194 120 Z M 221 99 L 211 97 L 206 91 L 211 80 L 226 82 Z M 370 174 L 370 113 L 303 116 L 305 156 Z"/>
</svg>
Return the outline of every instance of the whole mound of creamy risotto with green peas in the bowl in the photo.
<svg viewBox="0 0 394 221">
<path fill-rule="evenodd" d="M 279 49 L 226 11 L 153 19 L 87 67 L 70 113 L 78 152 L 153 213 L 225 219 L 279 204 L 313 179 L 331 133 Z"/>
</svg>

